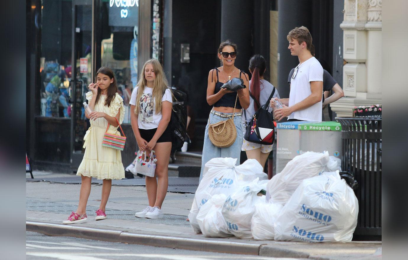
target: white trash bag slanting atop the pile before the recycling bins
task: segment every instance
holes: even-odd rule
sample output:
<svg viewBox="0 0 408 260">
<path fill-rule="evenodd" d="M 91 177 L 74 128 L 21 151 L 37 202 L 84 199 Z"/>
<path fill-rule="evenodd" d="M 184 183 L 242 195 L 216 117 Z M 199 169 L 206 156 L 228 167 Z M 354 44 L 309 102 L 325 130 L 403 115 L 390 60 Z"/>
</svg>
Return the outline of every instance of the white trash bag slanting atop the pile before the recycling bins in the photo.
<svg viewBox="0 0 408 260">
<path fill-rule="evenodd" d="M 266 202 L 285 205 L 300 183 L 323 172 L 328 161 L 328 152 L 305 152 L 296 156 L 269 181 Z"/>
</svg>

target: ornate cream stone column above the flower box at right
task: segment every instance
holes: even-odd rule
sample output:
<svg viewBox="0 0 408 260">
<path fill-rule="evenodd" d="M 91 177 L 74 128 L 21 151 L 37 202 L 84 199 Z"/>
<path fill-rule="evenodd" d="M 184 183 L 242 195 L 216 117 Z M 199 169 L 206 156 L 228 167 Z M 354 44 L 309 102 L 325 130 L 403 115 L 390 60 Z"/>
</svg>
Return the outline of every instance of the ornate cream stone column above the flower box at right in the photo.
<svg viewBox="0 0 408 260">
<path fill-rule="evenodd" d="M 381 6 L 382 0 L 344 0 L 344 97 L 330 104 L 339 117 L 381 104 Z"/>
</svg>

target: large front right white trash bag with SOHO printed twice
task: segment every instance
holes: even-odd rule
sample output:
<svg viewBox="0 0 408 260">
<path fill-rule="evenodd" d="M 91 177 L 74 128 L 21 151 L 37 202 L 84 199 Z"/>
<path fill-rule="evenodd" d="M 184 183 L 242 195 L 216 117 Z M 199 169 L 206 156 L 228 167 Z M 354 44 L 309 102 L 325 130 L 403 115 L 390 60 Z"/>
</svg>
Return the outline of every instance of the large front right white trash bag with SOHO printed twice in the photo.
<svg viewBox="0 0 408 260">
<path fill-rule="evenodd" d="M 275 240 L 350 242 L 358 201 L 339 172 L 308 178 L 296 189 L 275 223 Z"/>
</svg>

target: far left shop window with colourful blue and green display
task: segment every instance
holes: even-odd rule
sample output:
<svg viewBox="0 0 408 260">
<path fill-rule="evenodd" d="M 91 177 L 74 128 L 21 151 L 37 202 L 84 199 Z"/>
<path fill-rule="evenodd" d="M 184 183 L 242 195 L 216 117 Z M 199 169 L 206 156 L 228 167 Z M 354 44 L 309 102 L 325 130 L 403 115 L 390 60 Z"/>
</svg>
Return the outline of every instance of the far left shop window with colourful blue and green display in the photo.
<svg viewBox="0 0 408 260">
<path fill-rule="evenodd" d="M 42 0 L 41 109 L 43 117 L 70 117 L 72 1 Z"/>
</svg>

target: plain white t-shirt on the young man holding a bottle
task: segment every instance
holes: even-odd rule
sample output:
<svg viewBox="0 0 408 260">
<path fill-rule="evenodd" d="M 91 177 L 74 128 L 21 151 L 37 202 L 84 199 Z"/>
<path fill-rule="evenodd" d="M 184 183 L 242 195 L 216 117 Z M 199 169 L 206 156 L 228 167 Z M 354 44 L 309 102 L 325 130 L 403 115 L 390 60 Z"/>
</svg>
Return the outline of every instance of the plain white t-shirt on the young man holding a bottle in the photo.
<svg viewBox="0 0 408 260">
<path fill-rule="evenodd" d="M 292 77 L 290 80 L 289 106 L 299 103 L 312 94 L 310 90 L 310 82 L 312 81 L 323 81 L 323 67 L 315 57 L 300 64 L 297 67 L 295 78 Z M 322 104 L 322 99 L 320 99 L 313 106 L 293 112 L 288 119 L 320 122 L 322 121 Z"/>
</svg>

